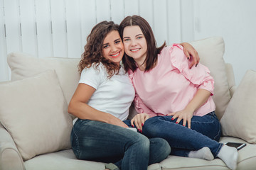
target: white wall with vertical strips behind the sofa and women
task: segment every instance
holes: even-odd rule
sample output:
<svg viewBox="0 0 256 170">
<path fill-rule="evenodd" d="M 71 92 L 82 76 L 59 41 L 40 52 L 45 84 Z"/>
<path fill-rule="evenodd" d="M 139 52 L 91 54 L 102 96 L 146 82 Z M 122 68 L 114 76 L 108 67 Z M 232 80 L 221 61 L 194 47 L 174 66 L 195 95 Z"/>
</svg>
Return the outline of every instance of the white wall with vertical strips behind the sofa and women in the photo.
<svg viewBox="0 0 256 170">
<path fill-rule="evenodd" d="M 92 26 L 125 16 L 149 21 L 156 41 L 225 40 L 225 61 L 239 84 L 256 70 L 254 0 L 0 0 L 0 81 L 10 79 L 9 52 L 35 57 L 80 57 Z"/>
</svg>

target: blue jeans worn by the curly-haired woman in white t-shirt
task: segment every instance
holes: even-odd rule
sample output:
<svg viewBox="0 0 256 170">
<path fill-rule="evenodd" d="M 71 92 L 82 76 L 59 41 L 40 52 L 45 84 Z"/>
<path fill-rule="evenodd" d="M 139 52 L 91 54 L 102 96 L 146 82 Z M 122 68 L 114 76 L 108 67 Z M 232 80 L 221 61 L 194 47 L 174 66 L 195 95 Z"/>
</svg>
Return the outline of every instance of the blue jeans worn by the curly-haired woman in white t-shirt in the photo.
<svg viewBox="0 0 256 170">
<path fill-rule="evenodd" d="M 78 119 L 70 138 L 78 159 L 112 162 L 122 170 L 147 169 L 149 164 L 161 162 L 171 152 L 166 140 L 149 140 L 139 132 L 94 120 Z"/>
</svg>

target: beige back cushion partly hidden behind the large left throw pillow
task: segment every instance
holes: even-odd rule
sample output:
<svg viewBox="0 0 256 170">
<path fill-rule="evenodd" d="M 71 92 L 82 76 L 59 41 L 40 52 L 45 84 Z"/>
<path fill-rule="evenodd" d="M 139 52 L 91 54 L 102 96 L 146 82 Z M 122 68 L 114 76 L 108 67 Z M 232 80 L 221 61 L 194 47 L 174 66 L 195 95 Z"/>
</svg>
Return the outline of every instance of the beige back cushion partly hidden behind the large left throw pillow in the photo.
<svg viewBox="0 0 256 170">
<path fill-rule="evenodd" d="M 7 62 L 11 68 L 11 80 L 31 77 L 48 69 L 55 69 L 66 101 L 72 98 L 80 75 L 78 72 L 79 58 L 44 57 L 36 58 L 24 52 L 12 52 Z"/>
</svg>

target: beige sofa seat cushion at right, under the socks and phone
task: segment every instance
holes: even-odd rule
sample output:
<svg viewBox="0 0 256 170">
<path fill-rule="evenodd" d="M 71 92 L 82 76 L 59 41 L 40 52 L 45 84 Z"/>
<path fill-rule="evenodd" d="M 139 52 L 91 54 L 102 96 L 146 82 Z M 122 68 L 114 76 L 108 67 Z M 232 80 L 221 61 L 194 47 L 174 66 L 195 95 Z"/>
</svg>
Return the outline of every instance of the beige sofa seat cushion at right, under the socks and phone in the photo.
<svg viewBox="0 0 256 170">
<path fill-rule="evenodd" d="M 255 169 L 256 162 L 256 145 L 249 144 L 244 140 L 235 137 L 221 137 L 220 142 L 244 142 L 247 144 L 246 147 L 238 151 L 238 168 L 237 170 L 245 169 Z M 171 170 L 171 169 L 183 169 L 183 170 L 218 170 L 226 169 L 228 167 L 221 159 L 214 159 L 213 161 L 207 161 L 204 159 L 195 159 L 188 157 L 176 157 L 169 156 L 163 162 L 160 163 L 162 170 Z"/>
</svg>

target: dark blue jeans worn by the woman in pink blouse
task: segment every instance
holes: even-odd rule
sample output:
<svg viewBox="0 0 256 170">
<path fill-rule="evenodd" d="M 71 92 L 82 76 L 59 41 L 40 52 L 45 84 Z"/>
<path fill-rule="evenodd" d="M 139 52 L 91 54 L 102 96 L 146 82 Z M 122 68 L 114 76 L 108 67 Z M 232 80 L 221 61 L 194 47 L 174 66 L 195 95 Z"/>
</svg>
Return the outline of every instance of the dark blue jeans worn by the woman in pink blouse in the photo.
<svg viewBox="0 0 256 170">
<path fill-rule="evenodd" d="M 156 116 L 145 121 L 142 133 L 146 137 L 161 137 L 169 142 L 171 154 L 181 157 L 188 157 L 192 150 L 208 147 L 217 157 L 220 148 L 219 143 L 221 128 L 215 112 L 204 116 L 193 116 L 191 129 L 183 126 L 183 121 L 176 124 L 172 116 Z"/>
</svg>

